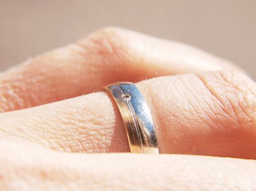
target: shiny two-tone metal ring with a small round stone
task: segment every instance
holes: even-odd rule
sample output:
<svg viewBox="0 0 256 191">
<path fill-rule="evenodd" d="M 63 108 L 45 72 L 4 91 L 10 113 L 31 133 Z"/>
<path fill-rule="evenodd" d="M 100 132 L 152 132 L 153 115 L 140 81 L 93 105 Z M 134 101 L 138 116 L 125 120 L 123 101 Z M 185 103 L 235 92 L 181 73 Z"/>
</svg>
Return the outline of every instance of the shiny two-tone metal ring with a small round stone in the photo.
<svg viewBox="0 0 256 191">
<path fill-rule="evenodd" d="M 115 99 L 128 136 L 131 153 L 159 153 L 149 107 L 139 89 L 130 82 L 104 88 Z"/>
</svg>

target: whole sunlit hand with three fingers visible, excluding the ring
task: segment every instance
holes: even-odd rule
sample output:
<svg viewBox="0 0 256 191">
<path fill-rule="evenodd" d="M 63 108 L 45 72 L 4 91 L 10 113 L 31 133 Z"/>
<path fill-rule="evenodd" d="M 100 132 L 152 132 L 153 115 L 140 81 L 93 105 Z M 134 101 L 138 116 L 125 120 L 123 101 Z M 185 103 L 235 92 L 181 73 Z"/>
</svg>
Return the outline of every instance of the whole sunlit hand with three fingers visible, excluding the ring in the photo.
<svg viewBox="0 0 256 191">
<path fill-rule="evenodd" d="M 242 73 L 120 28 L 9 69 L 0 76 L 0 190 L 253 190 L 256 86 Z M 95 92 L 117 81 L 140 81 L 169 154 L 103 153 L 129 152 L 116 104 Z"/>
</svg>

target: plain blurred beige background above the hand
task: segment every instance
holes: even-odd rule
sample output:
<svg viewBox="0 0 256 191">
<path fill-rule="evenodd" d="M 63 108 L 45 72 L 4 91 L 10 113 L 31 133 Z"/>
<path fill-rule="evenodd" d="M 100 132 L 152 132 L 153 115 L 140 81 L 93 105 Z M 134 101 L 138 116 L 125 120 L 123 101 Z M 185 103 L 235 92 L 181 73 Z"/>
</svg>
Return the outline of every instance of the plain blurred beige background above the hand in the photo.
<svg viewBox="0 0 256 191">
<path fill-rule="evenodd" d="M 256 79 L 253 0 L 0 0 L 0 69 L 110 25 L 200 47 Z"/>
</svg>

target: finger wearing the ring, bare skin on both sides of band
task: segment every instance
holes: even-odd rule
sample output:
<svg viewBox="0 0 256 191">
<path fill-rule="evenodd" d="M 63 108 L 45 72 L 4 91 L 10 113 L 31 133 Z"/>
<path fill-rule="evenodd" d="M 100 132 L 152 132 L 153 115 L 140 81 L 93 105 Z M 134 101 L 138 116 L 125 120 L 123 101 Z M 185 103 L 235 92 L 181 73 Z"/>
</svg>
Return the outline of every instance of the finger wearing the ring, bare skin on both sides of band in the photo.
<svg viewBox="0 0 256 191">
<path fill-rule="evenodd" d="M 256 159 L 255 84 L 217 71 L 138 83 L 161 153 Z M 0 136 L 69 152 L 129 152 L 120 112 L 104 92 L 0 115 Z"/>
</svg>

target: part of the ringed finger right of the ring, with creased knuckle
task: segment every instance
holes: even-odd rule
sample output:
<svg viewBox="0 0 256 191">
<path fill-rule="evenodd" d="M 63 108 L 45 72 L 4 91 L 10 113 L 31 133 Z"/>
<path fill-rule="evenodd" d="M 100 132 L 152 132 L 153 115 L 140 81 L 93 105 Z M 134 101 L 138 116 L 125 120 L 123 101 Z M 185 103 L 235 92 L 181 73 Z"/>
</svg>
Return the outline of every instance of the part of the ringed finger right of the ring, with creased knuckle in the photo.
<svg viewBox="0 0 256 191">
<path fill-rule="evenodd" d="M 223 156 L 235 156 L 236 151 L 242 155 L 246 151 L 241 145 L 255 145 L 256 87 L 243 74 L 212 71 L 157 77 L 139 87 L 168 152 L 201 153 L 206 149 L 200 144 L 202 137 L 209 139 L 206 144 L 211 142 L 211 154 L 219 151 Z M 233 150 L 226 151 L 223 144 L 231 144 Z"/>
</svg>

